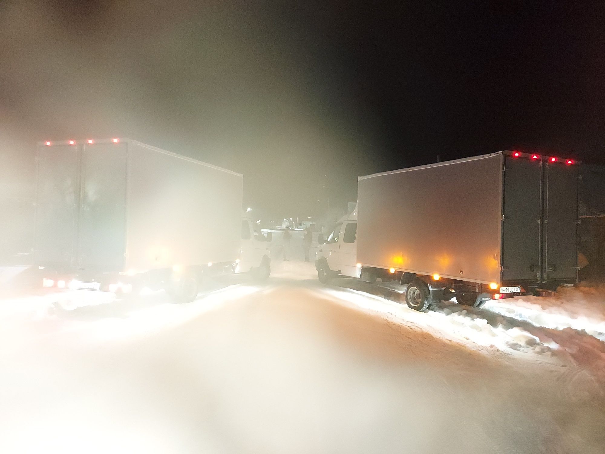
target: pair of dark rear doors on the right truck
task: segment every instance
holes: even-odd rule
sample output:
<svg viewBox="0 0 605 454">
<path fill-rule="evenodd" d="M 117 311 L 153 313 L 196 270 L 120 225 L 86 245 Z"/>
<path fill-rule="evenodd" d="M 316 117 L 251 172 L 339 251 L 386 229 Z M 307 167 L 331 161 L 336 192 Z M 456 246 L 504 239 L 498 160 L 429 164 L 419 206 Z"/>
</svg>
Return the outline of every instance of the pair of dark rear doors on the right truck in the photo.
<svg viewBox="0 0 605 454">
<path fill-rule="evenodd" d="M 578 166 L 505 158 L 503 281 L 575 281 Z"/>
</svg>

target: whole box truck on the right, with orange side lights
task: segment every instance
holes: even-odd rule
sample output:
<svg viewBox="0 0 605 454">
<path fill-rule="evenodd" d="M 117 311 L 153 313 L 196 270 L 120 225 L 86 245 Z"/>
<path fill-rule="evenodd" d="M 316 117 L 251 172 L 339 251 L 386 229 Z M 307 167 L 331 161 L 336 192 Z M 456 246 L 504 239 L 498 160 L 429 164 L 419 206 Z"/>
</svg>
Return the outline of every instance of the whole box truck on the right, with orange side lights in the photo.
<svg viewBox="0 0 605 454">
<path fill-rule="evenodd" d="M 545 295 L 578 275 L 578 165 L 502 151 L 359 177 L 324 240 L 319 280 L 378 278 L 418 311 Z"/>
</svg>

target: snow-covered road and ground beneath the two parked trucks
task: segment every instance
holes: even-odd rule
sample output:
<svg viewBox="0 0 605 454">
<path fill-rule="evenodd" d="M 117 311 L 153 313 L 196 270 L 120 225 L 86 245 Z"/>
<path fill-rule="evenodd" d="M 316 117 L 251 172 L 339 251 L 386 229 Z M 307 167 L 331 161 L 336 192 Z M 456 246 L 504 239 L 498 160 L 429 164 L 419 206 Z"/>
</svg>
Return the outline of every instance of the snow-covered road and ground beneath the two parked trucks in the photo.
<svg viewBox="0 0 605 454">
<path fill-rule="evenodd" d="M 0 452 L 603 452 L 598 309 L 419 313 L 274 271 L 191 304 L 0 300 Z"/>
</svg>

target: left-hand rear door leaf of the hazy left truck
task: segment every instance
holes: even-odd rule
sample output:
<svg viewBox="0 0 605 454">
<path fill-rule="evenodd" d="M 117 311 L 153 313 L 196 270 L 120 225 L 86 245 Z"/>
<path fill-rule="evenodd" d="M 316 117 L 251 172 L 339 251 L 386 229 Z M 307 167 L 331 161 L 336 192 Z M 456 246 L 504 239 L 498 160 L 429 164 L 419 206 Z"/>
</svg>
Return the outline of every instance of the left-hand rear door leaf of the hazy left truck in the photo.
<svg viewBox="0 0 605 454">
<path fill-rule="evenodd" d="M 34 255 L 40 265 L 74 265 L 79 163 L 76 146 L 38 148 Z"/>
</svg>

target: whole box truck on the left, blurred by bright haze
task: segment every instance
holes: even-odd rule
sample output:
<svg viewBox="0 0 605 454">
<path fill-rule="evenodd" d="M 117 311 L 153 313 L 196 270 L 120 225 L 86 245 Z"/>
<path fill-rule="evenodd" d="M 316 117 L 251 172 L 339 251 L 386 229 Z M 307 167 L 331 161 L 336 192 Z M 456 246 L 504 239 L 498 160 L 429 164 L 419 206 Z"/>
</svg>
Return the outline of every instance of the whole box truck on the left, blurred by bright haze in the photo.
<svg viewBox="0 0 605 454">
<path fill-rule="evenodd" d="M 209 275 L 269 275 L 266 237 L 244 239 L 241 174 L 120 138 L 39 143 L 37 167 L 44 286 L 191 301 Z"/>
</svg>

